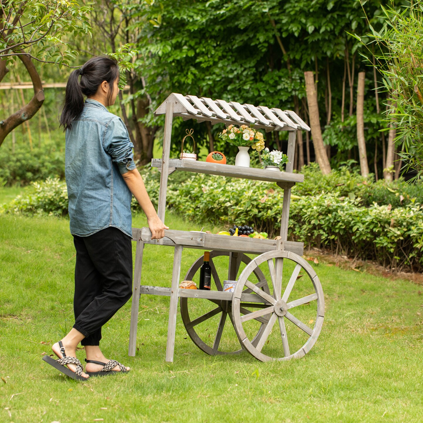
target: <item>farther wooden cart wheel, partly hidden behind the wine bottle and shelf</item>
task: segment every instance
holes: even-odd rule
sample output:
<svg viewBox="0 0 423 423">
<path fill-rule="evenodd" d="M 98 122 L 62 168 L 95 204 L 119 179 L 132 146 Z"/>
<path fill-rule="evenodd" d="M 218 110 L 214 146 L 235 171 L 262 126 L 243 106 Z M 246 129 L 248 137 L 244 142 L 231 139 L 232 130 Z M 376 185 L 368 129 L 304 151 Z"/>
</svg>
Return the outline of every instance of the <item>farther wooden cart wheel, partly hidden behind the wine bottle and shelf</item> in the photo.
<svg viewBox="0 0 423 423">
<path fill-rule="evenodd" d="M 213 259 L 215 259 L 216 262 L 222 261 L 222 259 L 217 259 L 221 256 L 229 257 L 229 265 L 216 263 L 220 264 L 220 266 L 217 266 L 214 263 Z M 241 263 L 249 264 L 250 262 L 251 258 L 242 253 L 210 251 L 209 263 L 211 267 L 211 277 L 214 280 L 214 286 L 212 283 L 211 289 L 214 290 L 217 288 L 217 291 L 222 291 L 223 280 L 227 278 L 228 274 L 230 275 L 229 279 L 236 280 Z M 191 265 L 190 269 L 185 275 L 185 280 L 194 280 L 197 272 L 199 274 L 199 270 L 202 264 L 203 256 L 198 258 Z M 219 276 L 218 270 L 221 270 L 222 267 L 225 268 L 225 272 L 228 272 L 228 274 L 223 274 L 223 271 L 221 271 L 221 275 Z M 261 272 L 261 270 L 257 267 L 253 269 L 252 274 L 255 279 L 257 279 L 257 281 L 253 281 L 252 283 L 255 289 L 269 294 L 269 286 L 267 284 L 266 278 L 263 275 L 263 272 Z M 249 292 L 251 292 L 251 290 L 249 290 Z M 239 313 L 250 313 L 250 310 L 244 308 L 244 305 L 244 303 L 239 304 Z M 230 345 L 227 345 L 227 343 L 225 343 L 226 345 L 220 345 L 225 323 L 227 323 L 229 320 L 232 323 L 231 326 L 233 326 L 232 301 L 181 297 L 180 306 L 182 321 L 184 322 L 187 334 L 192 339 L 192 342 L 194 342 L 195 345 L 198 346 L 198 348 L 200 348 L 203 352 L 210 355 L 215 355 L 238 354 L 243 351 L 243 349 L 236 349 L 236 346 L 239 346 L 239 342 L 232 330 L 231 332 L 233 337 L 231 338 Z M 255 305 L 252 306 L 254 307 Z M 256 321 L 258 322 L 256 336 L 260 337 L 265 329 L 266 319 L 258 317 Z M 228 331 L 225 331 L 225 334 L 229 335 Z"/>
</svg>

